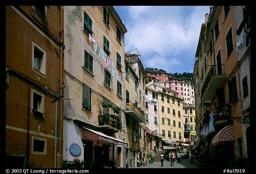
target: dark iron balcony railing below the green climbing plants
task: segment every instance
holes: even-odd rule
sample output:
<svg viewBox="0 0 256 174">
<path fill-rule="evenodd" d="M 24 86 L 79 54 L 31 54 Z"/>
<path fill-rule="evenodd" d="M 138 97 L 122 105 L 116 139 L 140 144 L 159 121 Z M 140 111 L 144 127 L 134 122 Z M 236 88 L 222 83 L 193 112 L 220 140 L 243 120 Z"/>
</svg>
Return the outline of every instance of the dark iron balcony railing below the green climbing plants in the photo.
<svg viewBox="0 0 256 174">
<path fill-rule="evenodd" d="M 118 116 L 114 116 L 112 114 L 100 114 L 98 115 L 98 119 L 99 126 L 109 125 L 111 127 L 121 130 L 121 122 Z"/>
</svg>

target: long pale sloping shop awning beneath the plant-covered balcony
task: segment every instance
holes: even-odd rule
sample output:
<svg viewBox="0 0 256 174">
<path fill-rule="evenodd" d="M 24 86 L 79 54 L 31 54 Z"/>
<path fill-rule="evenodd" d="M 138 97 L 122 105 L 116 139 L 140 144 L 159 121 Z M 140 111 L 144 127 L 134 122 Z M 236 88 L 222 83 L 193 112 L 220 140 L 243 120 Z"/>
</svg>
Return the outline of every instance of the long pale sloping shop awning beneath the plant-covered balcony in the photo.
<svg viewBox="0 0 256 174">
<path fill-rule="evenodd" d="M 112 137 L 112 136 L 109 136 L 109 135 L 106 135 L 102 132 L 99 132 L 99 131 L 96 131 L 96 130 L 92 130 L 92 129 L 89 129 L 87 127 L 83 127 L 84 130 L 88 130 L 89 132 L 92 132 L 94 134 L 97 134 L 99 136 L 99 140 L 103 140 L 103 141 L 107 141 L 107 142 L 112 142 L 112 143 L 116 143 L 116 144 L 119 144 L 121 146 L 127 146 L 127 143 L 118 139 L 118 138 L 115 138 L 115 137 Z M 86 134 L 84 133 L 84 136 L 86 137 Z"/>
</svg>

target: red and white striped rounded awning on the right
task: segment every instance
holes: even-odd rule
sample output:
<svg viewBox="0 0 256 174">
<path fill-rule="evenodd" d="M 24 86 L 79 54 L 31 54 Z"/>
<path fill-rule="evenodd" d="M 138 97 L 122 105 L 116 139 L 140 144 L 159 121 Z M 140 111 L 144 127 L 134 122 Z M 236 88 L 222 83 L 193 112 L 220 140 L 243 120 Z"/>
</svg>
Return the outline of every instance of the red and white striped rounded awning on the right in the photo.
<svg viewBox="0 0 256 174">
<path fill-rule="evenodd" d="M 234 129 L 233 125 L 229 125 L 220 130 L 214 137 L 212 138 L 212 146 L 220 145 L 220 144 L 232 144 L 234 143 Z"/>
</svg>

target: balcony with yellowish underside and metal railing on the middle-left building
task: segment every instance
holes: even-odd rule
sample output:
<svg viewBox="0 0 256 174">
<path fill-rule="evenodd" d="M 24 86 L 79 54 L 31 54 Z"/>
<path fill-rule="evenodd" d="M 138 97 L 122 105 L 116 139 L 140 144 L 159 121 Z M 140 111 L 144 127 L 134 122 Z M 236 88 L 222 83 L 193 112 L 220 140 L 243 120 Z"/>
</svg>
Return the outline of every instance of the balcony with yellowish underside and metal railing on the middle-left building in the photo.
<svg viewBox="0 0 256 174">
<path fill-rule="evenodd" d="M 134 119 L 137 123 L 145 122 L 144 112 L 135 103 L 127 103 L 124 113 Z"/>
</svg>

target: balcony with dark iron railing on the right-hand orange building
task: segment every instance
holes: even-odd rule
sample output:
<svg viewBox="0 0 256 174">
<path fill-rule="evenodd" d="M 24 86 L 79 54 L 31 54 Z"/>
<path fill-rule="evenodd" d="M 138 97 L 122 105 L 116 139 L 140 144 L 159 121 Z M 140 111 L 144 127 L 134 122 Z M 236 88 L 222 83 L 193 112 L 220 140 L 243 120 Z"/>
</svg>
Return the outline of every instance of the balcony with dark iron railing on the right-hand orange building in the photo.
<svg viewBox="0 0 256 174">
<path fill-rule="evenodd" d="M 226 74 L 224 74 L 223 64 L 212 65 L 210 70 L 204 80 L 203 87 L 201 89 L 202 101 L 212 100 L 216 94 L 216 89 L 220 88 L 224 80 L 226 79 Z"/>
</svg>

